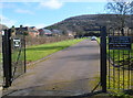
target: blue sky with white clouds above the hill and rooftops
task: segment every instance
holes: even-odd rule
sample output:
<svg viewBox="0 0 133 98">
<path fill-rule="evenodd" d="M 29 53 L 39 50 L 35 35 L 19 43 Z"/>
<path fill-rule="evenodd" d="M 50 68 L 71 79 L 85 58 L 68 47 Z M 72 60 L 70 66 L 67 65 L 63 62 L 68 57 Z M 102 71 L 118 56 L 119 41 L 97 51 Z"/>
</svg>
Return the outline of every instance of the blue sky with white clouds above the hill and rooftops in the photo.
<svg viewBox="0 0 133 98">
<path fill-rule="evenodd" d="M 52 25 L 70 17 L 105 13 L 106 1 L 84 0 L 37 0 L 37 1 L 1 1 L 0 21 L 8 28 Z"/>
</svg>

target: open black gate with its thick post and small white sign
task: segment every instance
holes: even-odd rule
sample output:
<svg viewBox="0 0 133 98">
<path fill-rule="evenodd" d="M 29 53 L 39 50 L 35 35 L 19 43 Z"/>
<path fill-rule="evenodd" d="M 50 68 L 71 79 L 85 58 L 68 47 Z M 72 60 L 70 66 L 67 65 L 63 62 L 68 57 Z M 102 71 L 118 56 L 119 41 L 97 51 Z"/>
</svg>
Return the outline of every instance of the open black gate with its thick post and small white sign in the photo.
<svg viewBox="0 0 133 98">
<path fill-rule="evenodd" d="M 2 35 L 3 81 L 4 87 L 11 86 L 13 79 L 25 73 L 25 28 L 4 30 Z"/>
</svg>

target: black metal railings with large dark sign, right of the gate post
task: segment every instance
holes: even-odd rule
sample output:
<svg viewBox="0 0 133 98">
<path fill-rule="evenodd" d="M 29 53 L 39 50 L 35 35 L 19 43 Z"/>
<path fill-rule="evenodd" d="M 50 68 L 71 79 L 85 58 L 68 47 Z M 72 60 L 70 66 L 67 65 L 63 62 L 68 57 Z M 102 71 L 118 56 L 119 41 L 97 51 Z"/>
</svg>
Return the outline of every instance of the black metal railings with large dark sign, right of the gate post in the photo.
<svg viewBox="0 0 133 98">
<path fill-rule="evenodd" d="M 124 32 L 124 34 L 122 33 Z M 106 87 L 122 91 L 133 87 L 133 29 L 109 29 L 106 36 Z"/>
</svg>

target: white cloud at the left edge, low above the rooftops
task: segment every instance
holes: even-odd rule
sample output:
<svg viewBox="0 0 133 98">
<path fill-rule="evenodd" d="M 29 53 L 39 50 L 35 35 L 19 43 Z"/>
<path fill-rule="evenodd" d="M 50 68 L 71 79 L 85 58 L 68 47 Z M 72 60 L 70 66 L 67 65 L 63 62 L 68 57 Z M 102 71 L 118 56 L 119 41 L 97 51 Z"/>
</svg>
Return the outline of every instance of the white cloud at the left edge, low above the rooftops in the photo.
<svg viewBox="0 0 133 98">
<path fill-rule="evenodd" d="M 0 14 L 0 23 L 6 24 L 8 28 L 11 28 L 12 25 L 14 25 L 17 23 L 17 21 L 11 20 L 11 19 Z"/>
</svg>

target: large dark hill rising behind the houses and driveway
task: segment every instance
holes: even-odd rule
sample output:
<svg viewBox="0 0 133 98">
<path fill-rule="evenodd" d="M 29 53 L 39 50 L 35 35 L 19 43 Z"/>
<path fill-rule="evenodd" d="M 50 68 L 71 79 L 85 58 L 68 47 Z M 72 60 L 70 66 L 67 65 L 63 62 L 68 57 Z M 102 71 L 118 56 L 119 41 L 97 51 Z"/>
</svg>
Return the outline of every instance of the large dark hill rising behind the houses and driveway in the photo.
<svg viewBox="0 0 133 98">
<path fill-rule="evenodd" d="M 116 14 L 85 14 L 79 17 L 72 17 L 65 19 L 59 23 L 47 26 L 49 30 L 62 30 L 63 33 L 66 31 L 76 32 L 76 34 L 89 33 L 90 29 L 96 29 L 99 26 L 120 26 Z M 126 26 L 131 26 L 131 17 L 126 15 Z M 92 31 L 91 31 L 92 32 Z"/>
</svg>

